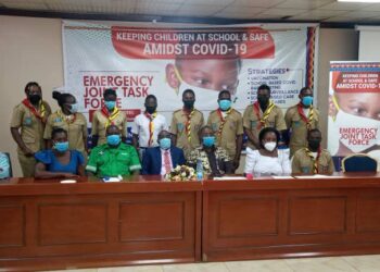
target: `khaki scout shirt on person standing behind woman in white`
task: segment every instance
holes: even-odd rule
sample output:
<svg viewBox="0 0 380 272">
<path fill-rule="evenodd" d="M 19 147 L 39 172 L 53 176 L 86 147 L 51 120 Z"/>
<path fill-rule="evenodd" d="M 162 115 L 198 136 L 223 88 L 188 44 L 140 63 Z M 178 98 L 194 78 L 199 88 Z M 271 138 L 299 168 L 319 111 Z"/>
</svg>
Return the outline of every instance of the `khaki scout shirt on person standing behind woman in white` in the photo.
<svg viewBox="0 0 380 272">
<path fill-rule="evenodd" d="M 259 116 L 263 116 L 262 109 L 259 107 L 258 109 L 259 109 Z M 259 119 L 257 118 L 256 109 L 253 104 L 250 104 L 249 107 L 246 107 L 243 114 L 243 126 L 250 129 L 254 136 L 258 138 L 258 134 L 264 127 L 275 127 L 279 132 L 287 129 L 287 124 L 283 119 L 282 110 L 278 106 L 275 106 L 271 109 L 268 118 L 265 121 L 265 125 L 262 127 L 259 127 L 259 125 L 261 125 L 261 122 L 259 122 Z M 248 146 L 251 149 L 256 149 L 256 147 L 253 145 L 251 140 L 248 141 Z"/>
</svg>

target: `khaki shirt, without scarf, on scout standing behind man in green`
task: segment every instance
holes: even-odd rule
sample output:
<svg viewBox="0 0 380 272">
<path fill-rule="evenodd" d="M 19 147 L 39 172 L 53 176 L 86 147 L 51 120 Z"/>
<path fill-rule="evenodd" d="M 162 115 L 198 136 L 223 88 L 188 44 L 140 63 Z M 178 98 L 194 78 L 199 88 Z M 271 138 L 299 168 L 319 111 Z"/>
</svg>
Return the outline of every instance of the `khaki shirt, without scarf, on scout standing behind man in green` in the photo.
<svg viewBox="0 0 380 272">
<path fill-rule="evenodd" d="M 113 124 L 121 129 L 122 136 L 127 136 L 127 116 L 123 111 L 119 111 L 117 118 L 115 118 L 113 121 Z M 93 113 L 92 116 L 92 129 L 91 135 L 98 135 L 98 146 L 103 145 L 106 143 L 105 137 L 105 126 L 109 123 L 109 119 L 104 116 L 104 114 L 101 112 L 101 110 L 98 110 Z"/>
</svg>

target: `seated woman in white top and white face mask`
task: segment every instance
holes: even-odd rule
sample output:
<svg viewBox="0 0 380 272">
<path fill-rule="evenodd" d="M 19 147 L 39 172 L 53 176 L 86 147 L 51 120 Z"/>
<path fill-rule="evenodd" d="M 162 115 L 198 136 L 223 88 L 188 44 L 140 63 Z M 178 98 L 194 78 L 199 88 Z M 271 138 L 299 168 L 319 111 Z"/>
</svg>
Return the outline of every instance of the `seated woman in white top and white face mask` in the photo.
<svg viewBox="0 0 380 272">
<path fill-rule="evenodd" d="M 246 149 L 244 173 L 261 175 L 289 175 L 289 149 L 278 149 L 279 132 L 265 127 L 258 134 L 259 149 Z"/>
</svg>

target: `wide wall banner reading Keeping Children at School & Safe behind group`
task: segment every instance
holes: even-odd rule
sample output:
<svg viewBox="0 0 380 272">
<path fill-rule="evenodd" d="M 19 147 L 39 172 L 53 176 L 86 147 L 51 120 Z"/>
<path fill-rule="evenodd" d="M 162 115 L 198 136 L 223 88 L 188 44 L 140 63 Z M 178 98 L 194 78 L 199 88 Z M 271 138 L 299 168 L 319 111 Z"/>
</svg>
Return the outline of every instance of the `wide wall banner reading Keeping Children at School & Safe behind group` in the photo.
<svg viewBox="0 0 380 272">
<path fill-rule="evenodd" d="M 129 121 L 143 110 L 148 95 L 172 119 L 191 88 L 195 107 L 217 108 L 223 89 L 243 111 L 267 84 L 275 103 L 297 103 L 299 90 L 314 83 L 317 27 L 266 25 L 206 28 L 143 28 L 109 23 L 64 21 L 64 89 L 76 96 L 85 114 L 100 109 L 105 88 L 117 91 L 117 106 Z"/>
</svg>

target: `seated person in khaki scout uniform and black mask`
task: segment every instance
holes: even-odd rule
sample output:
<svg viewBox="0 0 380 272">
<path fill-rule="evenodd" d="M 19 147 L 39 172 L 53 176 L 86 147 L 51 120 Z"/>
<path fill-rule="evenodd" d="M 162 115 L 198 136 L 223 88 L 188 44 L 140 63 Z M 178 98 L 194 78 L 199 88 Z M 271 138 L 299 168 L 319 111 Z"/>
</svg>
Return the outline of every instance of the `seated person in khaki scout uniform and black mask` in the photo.
<svg viewBox="0 0 380 272">
<path fill-rule="evenodd" d="M 295 151 L 292 158 L 292 174 L 332 174 L 333 161 L 329 151 L 320 148 L 321 140 L 319 129 L 307 133 L 307 147 Z"/>
</svg>

